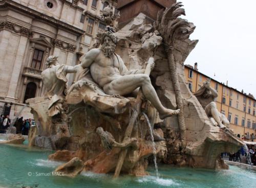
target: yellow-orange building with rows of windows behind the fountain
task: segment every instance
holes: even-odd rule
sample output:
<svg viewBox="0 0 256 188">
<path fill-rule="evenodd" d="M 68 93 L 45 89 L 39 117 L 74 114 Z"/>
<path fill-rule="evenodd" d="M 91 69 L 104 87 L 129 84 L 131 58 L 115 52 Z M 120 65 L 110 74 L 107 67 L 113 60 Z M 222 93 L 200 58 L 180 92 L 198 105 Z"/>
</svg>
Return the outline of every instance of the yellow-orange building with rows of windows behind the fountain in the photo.
<svg viewBox="0 0 256 188">
<path fill-rule="evenodd" d="M 194 67 L 185 65 L 184 72 L 188 87 L 193 93 L 200 89 L 207 78 L 210 78 L 198 71 L 197 63 Z M 246 95 L 243 91 L 240 92 L 224 83 L 210 79 L 210 86 L 218 91 L 217 108 L 229 120 L 234 134 L 245 135 L 248 140 L 254 138 L 256 133 L 256 100 L 254 97 L 250 93 Z"/>
</svg>

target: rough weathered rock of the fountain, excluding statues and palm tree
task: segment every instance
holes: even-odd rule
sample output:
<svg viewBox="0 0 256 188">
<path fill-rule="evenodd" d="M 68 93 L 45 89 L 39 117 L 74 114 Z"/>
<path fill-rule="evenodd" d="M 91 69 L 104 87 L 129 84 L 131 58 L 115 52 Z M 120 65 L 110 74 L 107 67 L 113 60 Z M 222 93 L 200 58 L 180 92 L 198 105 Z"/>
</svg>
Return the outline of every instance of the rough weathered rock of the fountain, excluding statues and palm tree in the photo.
<svg viewBox="0 0 256 188">
<path fill-rule="evenodd" d="M 176 109 L 175 92 L 172 77 L 168 71 L 166 53 L 163 45 L 158 48 L 157 45 L 153 45 L 159 42 L 158 33 L 144 22 L 145 15 L 139 14 L 116 33 L 118 36 L 116 53 L 122 57 L 128 69 L 142 69 L 144 62 L 149 57 L 154 57 L 155 69 L 150 77 L 151 83 L 162 104 L 166 108 Z M 193 27 L 192 23 L 190 25 Z M 145 45 L 147 47 L 143 50 L 142 46 L 145 42 L 149 45 Z M 174 57 L 184 103 L 186 146 L 179 139 L 177 117 L 160 120 L 157 114 L 155 132 L 166 139 L 156 144 L 158 161 L 178 166 L 222 168 L 224 165 L 219 160 L 220 153 L 235 152 L 242 144 L 232 134 L 210 124 L 203 107 L 185 83 L 183 63 L 190 51 L 195 48 L 196 43 L 196 40 L 185 39 L 176 41 L 174 45 Z M 58 151 L 50 158 L 69 160 L 71 156 L 76 156 L 84 162 L 83 170 L 97 173 L 114 172 L 120 149 L 105 150 L 96 129 L 102 127 L 104 131 L 112 134 L 117 143 L 121 143 L 133 112 L 131 106 L 134 105 L 135 99 L 102 96 L 95 90 L 97 88 L 90 83 L 81 84 L 78 90 L 72 90 L 65 100 L 68 108 L 66 116 L 57 116 L 54 119 L 50 119 L 47 114 L 49 100 L 35 98 L 29 100 L 29 103 L 39 125 L 38 140 L 46 137 L 44 139 L 51 140 L 48 145 L 53 145 L 56 150 L 75 151 L 75 153 L 67 152 L 66 157 L 63 158 L 58 157 L 58 153 L 61 153 Z M 144 100 L 142 106 L 142 110 L 147 109 Z M 62 118 L 65 118 L 64 122 Z M 147 174 L 146 158 L 153 154 L 152 143 L 147 140 L 148 135 L 146 119 L 139 114 L 131 134 L 131 137 L 137 138 L 138 149 L 127 151 L 122 173 Z M 41 143 L 44 147 L 43 142 Z"/>
</svg>

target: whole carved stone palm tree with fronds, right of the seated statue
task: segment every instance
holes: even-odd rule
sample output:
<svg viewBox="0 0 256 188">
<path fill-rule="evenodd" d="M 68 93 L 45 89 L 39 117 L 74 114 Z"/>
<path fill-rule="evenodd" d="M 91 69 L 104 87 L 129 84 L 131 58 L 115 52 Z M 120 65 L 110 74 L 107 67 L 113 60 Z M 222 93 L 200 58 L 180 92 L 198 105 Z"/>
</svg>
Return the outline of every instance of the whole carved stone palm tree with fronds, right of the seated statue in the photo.
<svg viewBox="0 0 256 188">
<path fill-rule="evenodd" d="M 189 36 L 189 23 L 187 20 L 179 18 L 185 15 L 185 10 L 180 8 L 181 3 L 175 3 L 165 10 L 160 10 L 157 15 L 157 20 L 154 22 L 154 27 L 161 34 L 164 43 L 164 50 L 167 54 L 170 75 L 173 80 L 177 107 L 180 109 L 178 122 L 180 127 L 180 138 L 185 141 L 185 121 L 184 121 L 184 106 L 183 98 L 180 91 L 180 83 L 176 72 L 176 62 L 174 59 L 174 43 L 176 40 Z"/>
</svg>

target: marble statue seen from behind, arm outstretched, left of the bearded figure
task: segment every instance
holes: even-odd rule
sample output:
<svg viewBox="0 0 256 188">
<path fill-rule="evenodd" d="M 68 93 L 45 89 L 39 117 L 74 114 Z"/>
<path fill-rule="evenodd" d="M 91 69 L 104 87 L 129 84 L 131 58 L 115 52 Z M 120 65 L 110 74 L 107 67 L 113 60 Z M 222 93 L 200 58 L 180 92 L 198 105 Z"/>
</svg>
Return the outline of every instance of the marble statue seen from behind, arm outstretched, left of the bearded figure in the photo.
<svg viewBox="0 0 256 188">
<path fill-rule="evenodd" d="M 46 87 L 45 97 L 51 101 L 48 107 L 49 116 L 63 112 L 62 102 L 66 96 L 68 82 L 66 76 L 77 72 L 76 67 L 59 64 L 57 58 L 57 56 L 49 56 L 46 62 L 47 68 L 41 73 Z"/>
</svg>

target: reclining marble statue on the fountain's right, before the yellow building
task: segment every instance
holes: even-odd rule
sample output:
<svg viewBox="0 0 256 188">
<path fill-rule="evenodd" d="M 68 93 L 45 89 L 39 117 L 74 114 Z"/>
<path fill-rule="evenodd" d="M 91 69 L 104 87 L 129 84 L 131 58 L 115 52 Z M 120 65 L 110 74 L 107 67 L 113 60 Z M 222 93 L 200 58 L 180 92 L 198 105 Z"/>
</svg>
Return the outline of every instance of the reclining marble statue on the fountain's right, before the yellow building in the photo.
<svg viewBox="0 0 256 188">
<path fill-rule="evenodd" d="M 226 116 L 220 113 L 216 106 L 218 92 L 210 86 L 210 79 L 203 83 L 203 86 L 195 93 L 202 107 L 205 109 L 210 122 L 222 129 L 229 128 L 229 121 Z"/>
</svg>

